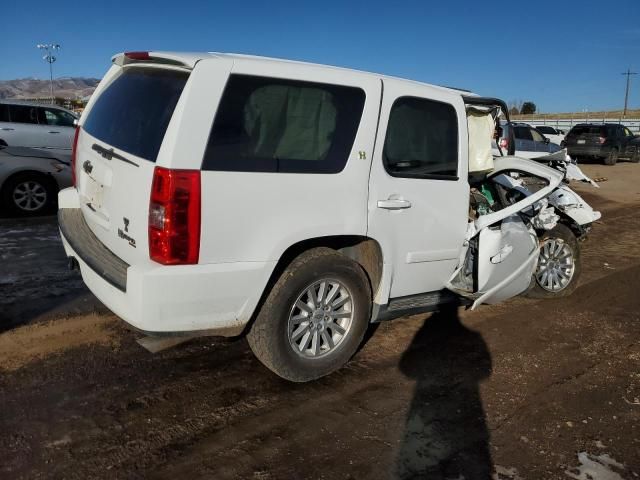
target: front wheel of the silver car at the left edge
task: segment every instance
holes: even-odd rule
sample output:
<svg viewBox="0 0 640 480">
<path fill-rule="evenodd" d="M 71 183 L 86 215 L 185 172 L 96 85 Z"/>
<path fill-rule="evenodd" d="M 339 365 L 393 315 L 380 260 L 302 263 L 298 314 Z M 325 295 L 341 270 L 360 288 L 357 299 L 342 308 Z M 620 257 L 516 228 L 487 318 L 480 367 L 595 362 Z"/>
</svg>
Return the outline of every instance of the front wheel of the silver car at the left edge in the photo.
<svg viewBox="0 0 640 480">
<path fill-rule="evenodd" d="M 2 205 L 16 215 L 42 215 L 55 207 L 56 193 L 55 182 L 45 175 L 19 173 L 2 187 Z"/>
</svg>

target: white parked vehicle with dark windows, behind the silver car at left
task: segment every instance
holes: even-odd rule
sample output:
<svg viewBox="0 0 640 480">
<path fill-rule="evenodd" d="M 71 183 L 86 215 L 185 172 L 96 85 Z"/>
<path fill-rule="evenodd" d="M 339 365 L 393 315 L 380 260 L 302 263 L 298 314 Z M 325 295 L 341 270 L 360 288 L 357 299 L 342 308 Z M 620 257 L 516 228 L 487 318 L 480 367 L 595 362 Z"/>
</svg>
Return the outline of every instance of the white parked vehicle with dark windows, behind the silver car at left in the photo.
<svg viewBox="0 0 640 480">
<path fill-rule="evenodd" d="M 0 101 L 0 145 L 37 148 L 71 156 L 78 117 L 54 105 Z"/>
</svg>

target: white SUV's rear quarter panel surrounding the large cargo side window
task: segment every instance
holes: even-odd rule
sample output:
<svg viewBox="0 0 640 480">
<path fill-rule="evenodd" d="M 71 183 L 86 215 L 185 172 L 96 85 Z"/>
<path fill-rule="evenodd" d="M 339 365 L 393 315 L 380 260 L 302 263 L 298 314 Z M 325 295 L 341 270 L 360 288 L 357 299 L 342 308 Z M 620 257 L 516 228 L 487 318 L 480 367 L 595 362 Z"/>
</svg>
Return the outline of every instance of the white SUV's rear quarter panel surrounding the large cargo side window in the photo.
<svg viewBox="0 0 640 480">
<path fill-rule="evenodd" d="M 275 261 L 301 240 L 365 235 L 380 80 L 337 69 L 269 61 L 236 60 L 233 73 L 355 86 L 365 91 L 365 105 L 347 164 L 340 173 L 203 171 L 200 263 Z M 216 82 L 209 88 L 208 129 L 223 85 Z M 365 158 L 361 158 L 361 151 Z M 200 151 L 197 153 L 202 159 Z"/>
</svg>

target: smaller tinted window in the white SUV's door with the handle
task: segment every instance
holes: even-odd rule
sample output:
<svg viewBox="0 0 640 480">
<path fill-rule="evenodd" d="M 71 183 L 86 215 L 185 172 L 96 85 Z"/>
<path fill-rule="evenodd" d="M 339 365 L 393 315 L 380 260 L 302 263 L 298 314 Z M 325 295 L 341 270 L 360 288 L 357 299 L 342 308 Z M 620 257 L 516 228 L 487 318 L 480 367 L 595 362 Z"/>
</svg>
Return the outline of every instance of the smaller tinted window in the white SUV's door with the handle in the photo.
<svg viewBox="0 0 640 480">
<path fill-rule="evenodd" d="M 397 99 L 382 157 L 394 177 L 457 179 L 458 117 L 453 106 L 416 97 Z"/>
</svg>

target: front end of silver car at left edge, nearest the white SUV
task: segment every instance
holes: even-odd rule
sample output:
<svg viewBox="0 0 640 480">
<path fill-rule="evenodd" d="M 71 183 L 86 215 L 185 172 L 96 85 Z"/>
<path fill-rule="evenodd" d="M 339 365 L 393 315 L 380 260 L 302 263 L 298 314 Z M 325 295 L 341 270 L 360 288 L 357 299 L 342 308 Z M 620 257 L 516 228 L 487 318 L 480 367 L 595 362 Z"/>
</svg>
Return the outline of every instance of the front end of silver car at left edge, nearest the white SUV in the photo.
<svg viewBox="0 0 640 480">
<path fill-rule="evenodd" d="M 58 190 L 71 184 L 69 162 L 34 148 L 0 146 L 0 209 L 21 215 L 51 212 Z"/>
</svg>

